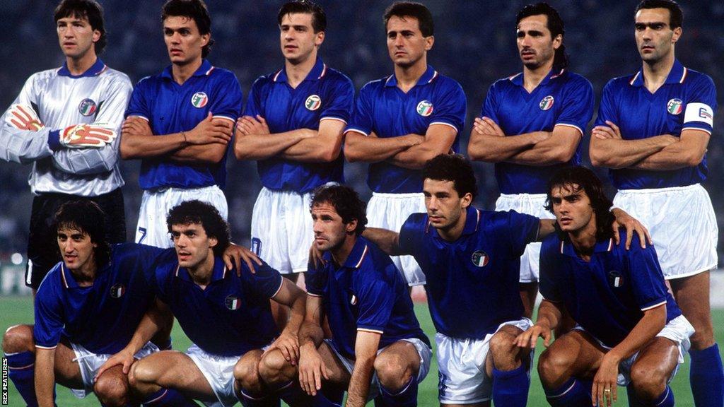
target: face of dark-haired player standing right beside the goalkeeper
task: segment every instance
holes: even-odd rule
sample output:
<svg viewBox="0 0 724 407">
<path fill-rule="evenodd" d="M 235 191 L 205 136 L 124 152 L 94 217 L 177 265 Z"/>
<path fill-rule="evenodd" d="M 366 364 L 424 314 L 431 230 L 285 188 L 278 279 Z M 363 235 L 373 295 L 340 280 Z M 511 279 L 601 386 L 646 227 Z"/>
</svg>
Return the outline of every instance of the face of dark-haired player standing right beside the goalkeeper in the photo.
<svg viewBox="0 0 724 407">
<path fill-rule="evenodd" d="M 198 32 L 193 18 L 169 16 L 164 20 L 164 41 L 172 64 L 185 65 L 201 59 L 201 50 L 209 38 L 210 34 Z"/>
</svg>

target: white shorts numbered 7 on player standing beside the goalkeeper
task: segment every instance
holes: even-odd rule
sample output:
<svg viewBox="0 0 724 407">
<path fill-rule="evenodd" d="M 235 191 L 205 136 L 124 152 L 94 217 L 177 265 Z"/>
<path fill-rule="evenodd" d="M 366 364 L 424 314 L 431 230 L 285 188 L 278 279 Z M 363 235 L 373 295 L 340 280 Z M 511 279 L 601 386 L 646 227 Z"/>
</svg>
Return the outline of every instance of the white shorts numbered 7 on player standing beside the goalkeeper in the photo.
<svg viewBox="0 0 724 407">
<path fill-rule="evenodd" d="M 222 215 L 222 218 L 227 219 L 229 208 L 226 196 L 216 185 L 190 189 L 144 190 L 138 213 L 135 243 L 143 243 L 144 245 L 159 248 L 173 247 L 174 243 L 166 225 L 166 217 L 174 206 L 194 199 L 213 205 Z"/>
</svg>

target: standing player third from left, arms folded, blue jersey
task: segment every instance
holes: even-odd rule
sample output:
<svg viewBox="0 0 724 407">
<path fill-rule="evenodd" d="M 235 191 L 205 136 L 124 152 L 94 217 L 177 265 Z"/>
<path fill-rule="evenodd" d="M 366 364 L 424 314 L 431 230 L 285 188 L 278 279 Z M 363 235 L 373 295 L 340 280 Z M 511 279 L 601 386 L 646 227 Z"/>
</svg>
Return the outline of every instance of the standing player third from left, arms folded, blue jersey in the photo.
<svg viewBox="0 0 724 407">
<path fill-rule="evenodd" d="M 284 68 L 259 77 L 237 122 L 237 159 L 258 160 L 261 189 L 251 219 L 252 250 L 290 280 L 306 270 L 313 232 L 311 192 L 343 182 L 342 130 L 354 87 L 319 56 L 327 16 L 312 1 L 279 9 Z M 285 315 L 278 318 L 286 321 Z"/>
</svg>

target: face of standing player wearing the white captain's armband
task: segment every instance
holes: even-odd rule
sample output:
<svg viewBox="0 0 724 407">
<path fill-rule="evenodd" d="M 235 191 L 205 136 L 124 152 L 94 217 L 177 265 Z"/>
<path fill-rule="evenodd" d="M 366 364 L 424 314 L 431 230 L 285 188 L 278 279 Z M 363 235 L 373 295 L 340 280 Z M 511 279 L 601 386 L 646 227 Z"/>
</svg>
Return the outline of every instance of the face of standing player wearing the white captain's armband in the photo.
<svg viewBox="0 0 724 407">
<path fill-rule="evenodd" d="M 636 48 L 644 62 L 658 62 L 673 52 L 681 27 L 671 29 L 669 13 L 668 9 L 640 9 L 636 13 Z"/>
</svg>

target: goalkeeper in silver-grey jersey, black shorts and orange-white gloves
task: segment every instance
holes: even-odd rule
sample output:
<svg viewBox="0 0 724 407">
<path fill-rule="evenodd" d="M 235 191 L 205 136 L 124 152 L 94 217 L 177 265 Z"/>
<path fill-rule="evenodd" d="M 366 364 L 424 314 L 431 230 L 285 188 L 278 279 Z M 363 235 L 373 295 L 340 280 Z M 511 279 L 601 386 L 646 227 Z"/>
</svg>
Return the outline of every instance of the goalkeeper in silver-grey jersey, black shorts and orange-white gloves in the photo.
<svg viewBox="0 0 724 407">
<path fill-rule="evenodd" d="M 54 20 L 65 63 L 31 76 L 0 124 L 0 158 L 33 163 L 25 272 L 33 292 L 60 261 L 50 225 L 65 202 L 96 202 L 109 215 L 105 239 L 126 240 L 116 135 L 132 86 L 126 75 L 98 59 L 107 41 L 100 4 L 64 0 Z"/>
</svg>

